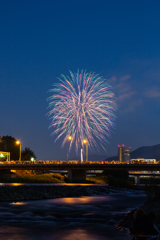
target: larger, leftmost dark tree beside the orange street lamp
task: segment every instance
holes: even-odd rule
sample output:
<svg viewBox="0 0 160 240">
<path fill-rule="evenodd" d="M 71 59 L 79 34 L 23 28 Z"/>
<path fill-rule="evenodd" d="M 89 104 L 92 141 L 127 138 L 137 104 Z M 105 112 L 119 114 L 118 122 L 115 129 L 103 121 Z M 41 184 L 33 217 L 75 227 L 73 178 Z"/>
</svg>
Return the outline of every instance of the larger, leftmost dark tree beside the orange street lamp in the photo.
<svg viewBox="0 0 160 240">
<path fill-rule="evenodd" d="M 0 138 L 0 151 L 10 152 L 11 160 L 19 159 L 19 145 L 16 144 L 16 139 L 12 136 L 3 136 Z"/>
</svg>

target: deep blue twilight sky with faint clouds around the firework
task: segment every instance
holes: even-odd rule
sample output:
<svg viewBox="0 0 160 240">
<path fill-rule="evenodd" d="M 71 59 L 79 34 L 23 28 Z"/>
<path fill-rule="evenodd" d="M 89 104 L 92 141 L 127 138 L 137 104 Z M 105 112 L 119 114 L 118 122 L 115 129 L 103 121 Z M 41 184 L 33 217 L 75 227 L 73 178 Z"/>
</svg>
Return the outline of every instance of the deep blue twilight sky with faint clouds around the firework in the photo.
<svg viewBox="0 0 160 240">
<path fill-rule="evenodd" d="M 116 94 L 106 157 L 122 143 L 159 144 L 159 12 L 159 0 L 0 0 L 0 135 L 38 159 L 66 159 L 46 99 L 57 77 L 79 68 L 108 79 Z"/>
</svg>

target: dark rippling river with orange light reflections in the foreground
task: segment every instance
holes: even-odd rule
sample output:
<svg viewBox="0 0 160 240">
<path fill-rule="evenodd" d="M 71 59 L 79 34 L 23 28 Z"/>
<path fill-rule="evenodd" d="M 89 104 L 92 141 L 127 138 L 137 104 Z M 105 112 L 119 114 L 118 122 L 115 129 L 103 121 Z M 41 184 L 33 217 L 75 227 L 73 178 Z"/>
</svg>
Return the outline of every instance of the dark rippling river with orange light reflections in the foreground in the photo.
<svg viewBox="0 0 160 240">
<path fill-rule="evenodd" d="M 141 206 L 145 194 L 126 190 L 106 196 L 0 203 L 3 240 L 129 240 L 115 224 Z"/>
</svg>

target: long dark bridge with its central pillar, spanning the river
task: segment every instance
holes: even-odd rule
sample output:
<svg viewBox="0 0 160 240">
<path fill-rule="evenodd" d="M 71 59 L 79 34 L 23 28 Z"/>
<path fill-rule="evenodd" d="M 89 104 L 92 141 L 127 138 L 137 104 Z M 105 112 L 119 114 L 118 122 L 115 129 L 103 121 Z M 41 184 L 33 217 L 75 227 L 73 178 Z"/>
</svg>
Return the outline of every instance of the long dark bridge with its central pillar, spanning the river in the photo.
<svg viewBox="0 0 160 240">
<path fill-rule="evenodd" d="M 160 171 L 160 164 L 0 164 L 3 170 L 67 170 L 69 182 L 85 182 L 86 170 Z M 142 174 L 143 175 L 143 174 Z"/>
</svg>

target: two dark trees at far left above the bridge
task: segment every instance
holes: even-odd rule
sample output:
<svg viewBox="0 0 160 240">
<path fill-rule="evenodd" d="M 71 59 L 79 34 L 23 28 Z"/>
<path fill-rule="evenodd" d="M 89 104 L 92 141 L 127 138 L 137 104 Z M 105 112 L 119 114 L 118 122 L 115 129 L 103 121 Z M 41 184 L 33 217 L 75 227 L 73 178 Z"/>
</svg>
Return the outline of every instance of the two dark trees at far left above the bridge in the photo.
<svg viewBox="0 0 160 240">
<path fill-rule="evenodd" d="M 17 139 L 12 136 L 3 136 L 0 137 L 0 151 L 3 152 L 10 152 L 10 159 L 11 160 L 18 160 L 19 159 L 19 145 L 16 144 Z M 1 158 L 1 157 L 0 157 Z M 21 152 L 21 160 L 31 160 L 31 158 L 36 159 L 35 153 L 29 148 L 25 147 L 24 150 Z"/>
</svg>

